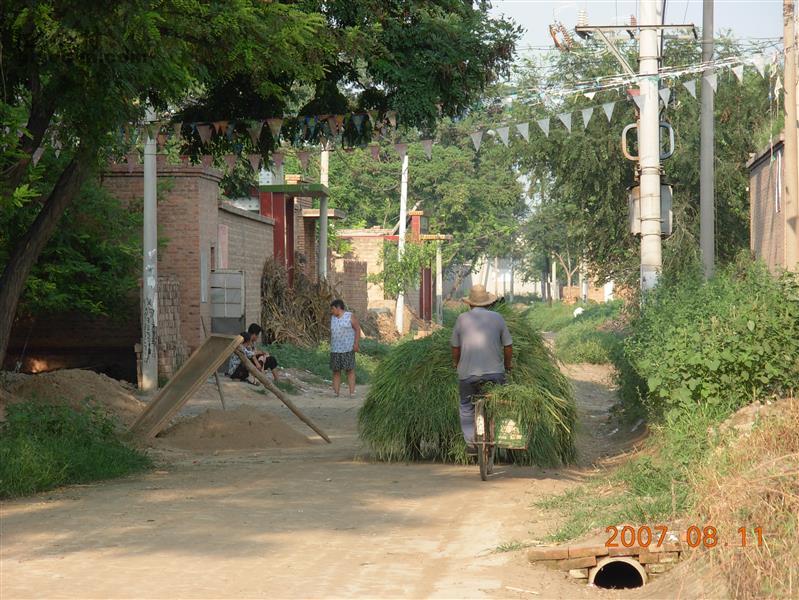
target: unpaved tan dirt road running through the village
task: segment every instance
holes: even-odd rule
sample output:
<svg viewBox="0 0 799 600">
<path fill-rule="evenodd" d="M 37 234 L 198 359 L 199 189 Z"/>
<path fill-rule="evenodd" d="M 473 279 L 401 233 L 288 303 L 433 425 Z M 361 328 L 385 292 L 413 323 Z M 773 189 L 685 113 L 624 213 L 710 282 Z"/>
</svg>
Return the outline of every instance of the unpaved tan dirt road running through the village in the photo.
<svg viewBox="0 0 799 600">
<path fill-rule="evenodd" d="M 572 369 L 583 464 L 612 451 L 604 369 Z M 226 384 L 307 430 L 271 398 Z M 242 391 L 243 390 L 243 391 Z M 297 449 L 210 455 L 160 449 L 144 476 L 70 487 L 2 509 L 0 596 L 11 598 L 582 598 L 560 573 L 503 544 L 542 539 L 531 503 L 583 471 L 378 464 L 355 431 L 354 399 L 320 387 L 297 404 L 333 438 Z M 218 401 L 205 386 L 188 407 Z"/>
</svg>

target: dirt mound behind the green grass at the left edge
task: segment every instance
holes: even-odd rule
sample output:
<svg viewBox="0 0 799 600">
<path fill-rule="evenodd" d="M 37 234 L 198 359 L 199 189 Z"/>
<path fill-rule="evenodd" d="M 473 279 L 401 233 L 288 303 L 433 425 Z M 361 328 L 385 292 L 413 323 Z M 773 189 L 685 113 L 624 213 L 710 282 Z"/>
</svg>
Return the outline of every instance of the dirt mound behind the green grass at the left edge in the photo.
<svg viewBox="0 0 799 600">
<path fill-rule="evenodd" d="M 90 406 L 107 411 L 123 425 L 132 424 L 144 409 L 144 403 L 133 395 L 133 389 L 116 379 L 82 369 L 17 376 L 7 383 L 7 391 L 15 399 L 66 404 L 76 409 L 88 402 Z"/>
</svg>

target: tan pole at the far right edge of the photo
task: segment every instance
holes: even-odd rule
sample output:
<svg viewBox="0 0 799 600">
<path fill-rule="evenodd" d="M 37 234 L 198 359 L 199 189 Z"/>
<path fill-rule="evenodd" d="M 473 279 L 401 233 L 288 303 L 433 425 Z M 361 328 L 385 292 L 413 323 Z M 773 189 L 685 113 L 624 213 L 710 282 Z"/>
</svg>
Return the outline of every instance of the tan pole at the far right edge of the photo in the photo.
<svg viewBox="0 0 799 600">
<path fill-rule="evenodd" d="M 796 31 L 794 0 L 783 0 L 785 46 L 785 267 L 797 270 L 799 262 L 799 169 L 797 169 Z"/>
</svg>

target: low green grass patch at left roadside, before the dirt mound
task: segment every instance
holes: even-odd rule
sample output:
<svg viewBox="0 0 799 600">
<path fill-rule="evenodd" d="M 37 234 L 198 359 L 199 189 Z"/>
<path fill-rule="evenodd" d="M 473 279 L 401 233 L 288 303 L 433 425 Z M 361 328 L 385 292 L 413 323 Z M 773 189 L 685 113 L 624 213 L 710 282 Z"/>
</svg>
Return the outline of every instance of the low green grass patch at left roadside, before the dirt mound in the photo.
<svg viewBox="0 0 799 600">
<path fill-rule="evenodd" d="M 79 411 L 12 404 L 0 428 L 0 496 L 24 496 L 70 483 L 121 477 L 150 467 L 115 423 L 88 405 Z"/>
</svg>

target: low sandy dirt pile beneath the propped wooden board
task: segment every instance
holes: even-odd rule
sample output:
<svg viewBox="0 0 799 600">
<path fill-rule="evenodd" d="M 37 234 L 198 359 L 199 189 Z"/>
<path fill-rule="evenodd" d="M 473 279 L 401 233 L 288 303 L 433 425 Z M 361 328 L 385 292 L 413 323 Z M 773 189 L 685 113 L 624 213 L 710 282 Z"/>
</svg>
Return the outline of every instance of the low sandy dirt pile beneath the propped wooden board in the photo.
<svg viewBox="0 0 799 600">
<path fill-rule="evenodd" d="M 207 410 L 173 425 L 161 435 L 170 446 L 183 450 L 248 450 L 296 448 L 311 442 L 277 416 L 251 406 Z"/>
</svg>

